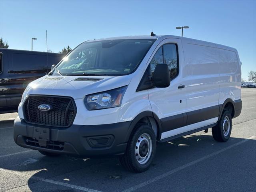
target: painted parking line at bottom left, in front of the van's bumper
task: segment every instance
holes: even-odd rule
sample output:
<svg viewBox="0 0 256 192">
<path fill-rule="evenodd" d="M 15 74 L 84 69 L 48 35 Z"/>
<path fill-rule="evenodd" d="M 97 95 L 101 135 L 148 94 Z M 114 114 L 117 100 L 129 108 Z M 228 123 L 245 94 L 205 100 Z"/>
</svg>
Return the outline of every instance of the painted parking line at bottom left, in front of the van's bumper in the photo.
<svg viewBox="0 0 256 192">
<path fill-rule="evenodd" d="M 60 182 L 60 181 L 45 179 L 45 178 L 37 177 L 37 176 L 29 176 L 28 174 L 25 174 L 25 173 L 20 173 L 18 171 L 8 170 L 8 169 L 4 169 L 4 168 L 0 168 L 0 171 L 6 172 L 6 173 L 9 173 L 9 174 L 15 174 L 15 175 L 26 177 L 26 178 L 29 177 L 29 178 L 34 179 L 34 180 L 43 181 L 43 182 L 47 182 L 47 183 L 52 183 L 52 184 L 56 184 L 56 185 L 61 185 L 61 186 L 65 186 L 65 187 L 68 187 L 68 188 L 73 188 L 73 189 L 77 189 L 77 190 L 81 190 L 81 191 L 101 192 L 101 191 L 98 191 L 98 190 L 94 190 L 94 189 L 90 189 L 90 188 L 86 188 L 86 187 L 81 187 L 81 186 L 77 186 L 77 185 L 72 185 L 72 184 L 68 184 L 68 183 L 64 183 L 64 182 Z"/>
</svg>

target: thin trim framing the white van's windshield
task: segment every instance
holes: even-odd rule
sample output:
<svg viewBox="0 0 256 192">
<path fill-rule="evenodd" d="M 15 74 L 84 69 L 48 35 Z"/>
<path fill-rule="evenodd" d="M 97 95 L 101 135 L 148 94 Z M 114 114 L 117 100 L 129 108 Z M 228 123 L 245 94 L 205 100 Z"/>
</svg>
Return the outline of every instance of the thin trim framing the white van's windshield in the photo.
<svg viewBox="0 0 256 192">
<path fill-rule="evenodd" d="M 116 39 L 115 39 L 115 40 L 116 40 Z M 106 73 L 102 73 L 102 76 L 106 76 L 106 75 L 107 75 L 107 76 L 124 76 L 124 75 L 130 75 L 130 74 L 134 73 L 134 72 L 137 70 L 137 68 L 140 66 L 142 60 L 145 58 L 146 54 L 148 53 L 148 51 L 150 50 L 150 48 L 153 46 L 154 42 L 156 42 L 157 39 L 118 39 L 118 40 L 150 40 L 150 41 L 152 41 L 152 44 L 151 44 L 151 46 L 148 47 L 148 50 L 146 50 L 146 53 L 142 56 L 141 60 L 138 62 L 138 64 L 137 64 L 136 67 L 134 68 L 134 70 L 132 70 L 130 73 L 125 73 L 125 74 L 117 74 L 117 73 L 113 73 L 113 74 L 108 73 L 108 74 L 106 74 Z M 99 42 L 102 42 L 102 41 L 110 41 L 110 40 L 99 40 Z M 86 41 L 86 42 L 82 42 L 82 43 L 80 43 L 78 46 L 80 46 L 80 45 L 82 45 L 82 44 L 93 43 L 93 42 L 96 42 L 96 41 Z M 76 48 L 78 48 L 78 46 L 76 46 Z M 67 57 L 70 53 L 72 53 L 74 50 L 76 50 L 76 48 L 74 48 L 71 52 L 69 52 L 69 53 L 66 55 L 66 57 Z M 65 58 L 65 57 L 64 57 L 64 58 Z M 55 68 L 58 68 L 58 66 L 63 62 L 64 58 L 56 65 Z M 90 76 L 89 74 L 90 74 L 90 73 L 87 73 L 86 76 Z M 97 74 L 100 74 L 100 73 L 97 73 Z M 53 72 L 52 72 L 51 75 L 53 75 Z M 66 75 L 65 73 L 64 73 L 64 74 L 62 73 L 62 76 L 68 76 L 68 75 Z M 75 76 L 75 73 L 74 73 L 74 75 L 72 75 L 72 76 Z M 81 76 L 81 73 L 78 74 L 77 76 Z M 92 73 L 92 76 L 93 76 L 93 73 Z"/>
</svg>

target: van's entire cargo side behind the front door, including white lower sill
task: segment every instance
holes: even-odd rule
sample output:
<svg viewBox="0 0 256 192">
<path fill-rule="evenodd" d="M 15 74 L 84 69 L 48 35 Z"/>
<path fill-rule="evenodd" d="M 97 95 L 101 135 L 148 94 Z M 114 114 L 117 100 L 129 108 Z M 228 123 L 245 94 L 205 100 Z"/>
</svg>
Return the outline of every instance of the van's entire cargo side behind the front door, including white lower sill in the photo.
<svg viewBox="0 0 256 192">
<path fill-rule="evenodd" d="M 234 102 L 235 117 L 240 114 L 242 107 L 241 67 L 237 51 L 188 38 L 182 38 L 182 45 L 186 126 L 162 132 L 161 140 L 216 125 L 227 99 Z"/>
</svg>

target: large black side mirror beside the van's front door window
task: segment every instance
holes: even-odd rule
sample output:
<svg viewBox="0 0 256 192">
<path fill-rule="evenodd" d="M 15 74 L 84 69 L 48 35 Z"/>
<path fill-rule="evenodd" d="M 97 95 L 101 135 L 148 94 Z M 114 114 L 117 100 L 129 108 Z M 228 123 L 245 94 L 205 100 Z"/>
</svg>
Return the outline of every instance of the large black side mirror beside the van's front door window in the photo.
<svg viewBox="0 0 256 192">
<path fill-rule="evenodd" d="M 167 64 L 156 65 L 153 74 L 153 83 L 158 88 L 164 88 L 170 85 L 170 71 Z"/>
</svg>

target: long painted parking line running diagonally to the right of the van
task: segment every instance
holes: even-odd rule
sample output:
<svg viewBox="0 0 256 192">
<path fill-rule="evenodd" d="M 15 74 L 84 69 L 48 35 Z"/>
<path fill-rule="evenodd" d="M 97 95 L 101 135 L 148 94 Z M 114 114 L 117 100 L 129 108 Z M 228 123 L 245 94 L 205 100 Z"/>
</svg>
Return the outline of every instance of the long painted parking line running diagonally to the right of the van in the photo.
<svg viewBox="0 0 256 192">
<path fill-rule="evenodd" d="M 162 179 L 162 178 L 165 178 L 165 177 L 167 177 L 167 176 L 169 176 L 169 175 L 171 175 L 171 174 L 174 174 L 174 173 L 176 173 L 176 172 L 178 172 L 178 171 L 180 171 L 180 170 L 183 170 L 183 169 L 185 169 L 185 168 L 187 168 L 187 167 L 189 167 L 189 166 L 192 166 L 192 165 L 194 165 L 194 164 L 196 164 L 196 163 L 198 163 L 198 162 L 201 162 L 201 161 L 203 161 L 203 160 L 206 160 L 206 159 L 208 159 L 208 158 L 210 158 L 210 157 L 212 157 L 212 156 L 215 156 L 215 155 L 217 155 L 217 154 L 219 154 L 219 153 L 222 153 L 222 152 L 224 152 L 224 151 L 226 151 L 226 150 L 228 150 L 228 149 L 230 149 L 230 148 L 233 148 L 233 147 L 235 147 L 235 146 L 238 146 L 238 145 L 240 145 L 240 144 L 242 144 L 242 143 L 244 143 L 244 142 L 246 142 L 246 141 L 249 141 L 249 140 L 251 140 L 251 139 L 254 139 L 254 138 L 256 138 L 256 137 L 255 137 L 255 136 L 252 136 L 252 137 L 249 137 L 249 138 L 247 138 L 247 139 L 244 139 L 244 140 L 242 140 L 242 141 L 240 141 L 240 142 L 237 142 L 237 143 L 235 143 L 235 144 L 232 144 L 232 145 L 230 145 L 230 146 L 228 146 L 228 147 L 226 147 L 226 148 L 223 148 L 223 149 L 218 150 L 218 151 L 216 151 L 216 152 L 213 152 L 213 153 L 211 153 L 211 154 L 209 154 L 209 155 L 206 155 L 206 156 L 204 156 L 204 157 L 202 157 L 202 158 L 199 158 L 199 159 L 194 160 L 194 161 L 192 161 L 192 162 L 190 162 L 190 163 L 187 163 L 187 164 L 185 164 L 185 165 L 183 165 L 183 166 L 180 166 L 180 167 L 178 167 L 178 168 L 175 168 L 175 169 L 173 169 L 173 170 L 170 170 L 170 171 L 168 171 L 168 172 L 166 172 L 166 173 L 164 173 L 164 174 L 162 174 L 162 175 L 156 176 L 156 177 L 154 177 L 154 178 L 152 178 L 152 179 L 150 179 L 150 180 L 147 180 L 147 181 L 145 181 L 145 182 L 142 182 L 141 184 L 138 184 L 138 185 L 136 185 L 136 186 L 133 186 L 133 187 L 131 187 L 131 188 L 128 188 L 128 189 L 124 190 L 123 192 L 132 192 L 132 191 L 134 191 L 134 190 L 137 190 L 137 189 L 139 189 L 139 188 L 142 188 L 142 187 L 144 187 L 144 186 L 146 186 L 146 185 L 148 185 L 148 184 L 151 184 L 151 183 L 153 183 L 153 182 L 155 182 L 155 181 L 158 181 L 158 180 L 160 180 L 160 179 Z"/>
</svg>

